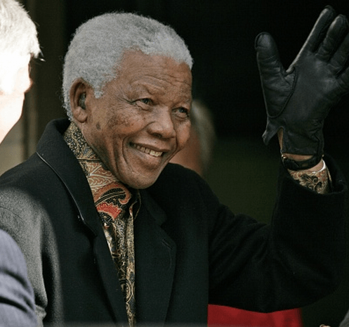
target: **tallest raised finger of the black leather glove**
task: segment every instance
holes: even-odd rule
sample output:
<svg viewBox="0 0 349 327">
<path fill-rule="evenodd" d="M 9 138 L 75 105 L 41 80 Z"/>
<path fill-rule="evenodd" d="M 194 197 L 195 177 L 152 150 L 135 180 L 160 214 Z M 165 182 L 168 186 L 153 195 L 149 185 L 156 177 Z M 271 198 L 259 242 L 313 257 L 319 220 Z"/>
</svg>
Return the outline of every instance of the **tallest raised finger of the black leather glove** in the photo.
<svg viewBox="0 0 349 327">
<path fill-rule="evenodd" d="M 326 6 L 320 13 L 319 18 L 312 27 L 312 30 L 305 41 L 302 50 L 316 51 L 321 44 L 322 40 L 326 36 L 326 32 L 331 25 L 332 21 L 336 17 L 336 12 L 331 6 Z"/>
</svg>

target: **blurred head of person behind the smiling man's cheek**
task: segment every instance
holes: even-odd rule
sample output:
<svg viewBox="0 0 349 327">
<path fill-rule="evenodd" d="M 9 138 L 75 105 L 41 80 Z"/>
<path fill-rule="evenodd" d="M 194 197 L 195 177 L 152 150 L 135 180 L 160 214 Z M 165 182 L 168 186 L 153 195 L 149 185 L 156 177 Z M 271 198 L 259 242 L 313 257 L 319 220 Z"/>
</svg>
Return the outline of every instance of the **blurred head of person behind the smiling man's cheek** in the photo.
<svg viewBox="0 0 349 327">
<path fill-rule="evenodd" d="M 190 139 L 171 162 L 190 168 L 204 176 L 209 169 L 212 158 L 216 132 L 209 108 L 200 100 L 192 101 L 190 110 L 192 129 Z"/>
</svg>

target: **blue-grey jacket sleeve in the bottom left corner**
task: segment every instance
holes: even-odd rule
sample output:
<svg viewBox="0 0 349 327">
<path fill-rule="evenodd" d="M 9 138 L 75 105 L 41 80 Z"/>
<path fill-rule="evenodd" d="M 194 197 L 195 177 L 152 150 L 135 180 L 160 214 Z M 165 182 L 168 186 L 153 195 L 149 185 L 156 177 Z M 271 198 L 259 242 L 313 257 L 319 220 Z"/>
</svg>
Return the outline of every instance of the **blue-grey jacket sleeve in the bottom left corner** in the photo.
<svg viewBox="0 0 349 327">
<path fill-rule="evenodd" d="M 0 326 L 37 326 L 34 292 L 17 243 L 0 230 Z"/>
</svg>

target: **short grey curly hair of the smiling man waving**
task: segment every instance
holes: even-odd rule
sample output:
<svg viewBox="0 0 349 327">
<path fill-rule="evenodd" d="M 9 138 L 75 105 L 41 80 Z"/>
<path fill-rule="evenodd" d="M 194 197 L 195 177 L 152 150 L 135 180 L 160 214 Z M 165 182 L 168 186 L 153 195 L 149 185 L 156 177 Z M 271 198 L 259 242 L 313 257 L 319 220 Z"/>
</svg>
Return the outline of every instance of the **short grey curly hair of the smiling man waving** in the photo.
<svg viewBox="0 0 349 327">
<path fill-rule="evenodd" d="M 171 27 L 133 13 L 99 15 L 77 29 L 65 56 L 62 92 L 70 119 L 73 82 L 84 79 L 93 87 L 96 98 L 100 98 L 103 86 L 117 77 L 117 68 L 127 50 L 167 56 L 192 68 L 185 42 Z"/>
</svg>

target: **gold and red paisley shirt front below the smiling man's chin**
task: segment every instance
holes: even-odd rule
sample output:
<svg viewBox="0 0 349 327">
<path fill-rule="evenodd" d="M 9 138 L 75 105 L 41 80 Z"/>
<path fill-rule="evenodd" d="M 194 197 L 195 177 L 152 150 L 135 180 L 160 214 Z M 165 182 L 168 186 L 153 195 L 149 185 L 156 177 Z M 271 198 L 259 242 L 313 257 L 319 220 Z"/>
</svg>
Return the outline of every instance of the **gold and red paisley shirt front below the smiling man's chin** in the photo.
<svg viewBox="0 0 349 327">
<path fill-rule="evenodd" d="M 129 325 L 136 325 L 135 253 L 133 219 L 136 218 L 140 195 L 121 184 L 105 167 L 96 153 L 86 143 L 74 122 L 64 134 L 64 139 L 79 161 L 93 200 L 103 224 L 105 238 L 117 268 L 121 290 L 124 293 Z"/>
</svg>

